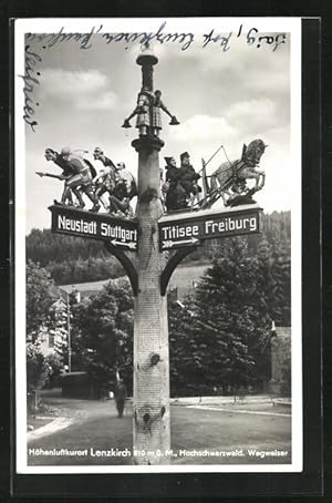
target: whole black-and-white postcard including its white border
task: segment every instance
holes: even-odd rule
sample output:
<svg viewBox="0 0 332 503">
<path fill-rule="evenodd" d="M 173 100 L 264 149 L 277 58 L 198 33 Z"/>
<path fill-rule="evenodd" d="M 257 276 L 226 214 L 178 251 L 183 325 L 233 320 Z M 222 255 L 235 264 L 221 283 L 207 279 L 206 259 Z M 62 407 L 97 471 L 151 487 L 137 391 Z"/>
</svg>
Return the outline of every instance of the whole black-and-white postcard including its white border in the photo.
<svg viewBox="0 0 332 503">
<path fill-rule="evenodd" d="M 15 471 L 301 472 L 301 20 L 14 21 Z"/>
</svg>

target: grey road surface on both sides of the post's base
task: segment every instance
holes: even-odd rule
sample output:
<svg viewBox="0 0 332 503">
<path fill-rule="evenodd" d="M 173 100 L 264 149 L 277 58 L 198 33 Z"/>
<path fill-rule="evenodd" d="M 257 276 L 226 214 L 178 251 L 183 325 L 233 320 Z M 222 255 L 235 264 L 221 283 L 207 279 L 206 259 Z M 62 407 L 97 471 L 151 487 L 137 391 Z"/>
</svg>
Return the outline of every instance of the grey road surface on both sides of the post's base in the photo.
<svg viewBox="0 0 332 503">
<path fill-rule="evenodd" d="M 114 401 L 53 399 L 62 415 L 72 422 L 62 430 L 29 441 L 29 465 L 131 464 L 132 407 L 117 418 Z M 174 464 L 279 464 L 291 462 L 291 417 L 289 408 L 228 406 L 220 409 L 172 406 Z M 112 455 L 97 454 L 111 451 Z M 60 453 L 60 450 L 63 450 Z M 72 451 L 68 452 L 65 451 Z M 53 451 L 55 455 L 44 453 Z M 255 453 L 253 450 L 256 450 Z M 283 454 L 276 456 L 276 451 Z M 74 453 L 74 451 L 81 451 Z M 198 451 L 198 454 L 197 454 Z M 207 451 L 208 454 L 201 454 Z M 214 454 L 210 452 L 214 451 Z M 257 452 L 259 451 L 259 452 Z M 263 455 L 262 451 L 274 451 Z M 215 455 L 217 453 L 217 455 Z M 232 454 L 231 454 L 232 453 Z M 251 455 L 250 455 L 251 453 Z M 49 455 L 50 454 L 50 455 Z"/>
</svg>

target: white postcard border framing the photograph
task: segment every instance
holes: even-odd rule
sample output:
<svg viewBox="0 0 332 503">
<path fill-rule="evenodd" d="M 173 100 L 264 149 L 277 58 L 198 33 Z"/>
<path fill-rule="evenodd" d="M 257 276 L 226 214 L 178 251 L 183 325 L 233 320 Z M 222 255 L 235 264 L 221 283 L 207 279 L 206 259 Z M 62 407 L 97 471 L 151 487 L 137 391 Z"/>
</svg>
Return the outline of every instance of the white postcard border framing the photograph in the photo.
<svg viewBox="0 0 332 503">
<path fill-rule="evenodd" d="M 291 304 L 292 304 L 292 462 L 291 464 L 250 465 L 48 465 L 28 466 L 27 461 L 27 382 L 25 382 L 25 123 L 24 107 L 24 33 L 90 31 L 103 24 L 103 31 L 157 30 L 167 21 L 172 29 L 188 27 L 201 32 L 218 25 L 222 31 L 237 29 L 242 21 L 255 22 L 260 32 L 282 31 L 291 34 L 291 165 L 293 168 L 293 207 L 291 209 Z M 303 468 L 302 424 L 302 280 L 301 280 L 301 19 L 300 18 L 152 18 L 152 19 L 18 19 L 14 23 L 14 150 L 15 150 L 15 420 L 17 473 L 188 473 L 188 472 L 301 472 Z"/>
</svg>

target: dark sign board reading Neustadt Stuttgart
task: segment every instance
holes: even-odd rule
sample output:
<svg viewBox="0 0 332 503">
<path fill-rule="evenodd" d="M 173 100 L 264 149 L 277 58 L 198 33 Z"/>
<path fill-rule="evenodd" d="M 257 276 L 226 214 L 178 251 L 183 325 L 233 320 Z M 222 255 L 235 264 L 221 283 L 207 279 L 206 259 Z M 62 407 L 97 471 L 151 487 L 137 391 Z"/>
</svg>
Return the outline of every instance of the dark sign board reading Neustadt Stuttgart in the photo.
<svg viewBox="0 0 332 503">
<path fill-rule="evenodd" d="M 137 249 L 137 222 L 111 215 L 53 205 L 52 230 L 58 234 L 101 239 L 124 249 Z"/>
</svg>

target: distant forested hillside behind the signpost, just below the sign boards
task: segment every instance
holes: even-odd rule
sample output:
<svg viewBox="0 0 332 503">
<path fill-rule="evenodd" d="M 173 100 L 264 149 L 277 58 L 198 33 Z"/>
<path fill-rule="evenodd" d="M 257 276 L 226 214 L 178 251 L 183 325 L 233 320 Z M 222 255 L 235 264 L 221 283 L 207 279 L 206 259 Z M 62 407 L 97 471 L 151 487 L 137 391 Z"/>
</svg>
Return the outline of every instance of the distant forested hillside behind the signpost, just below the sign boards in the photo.
<svg viewBox="0 0 332 503">
<path fill-rule="evenodd" d="M 259 236 L 247 237 L 250 254 L 256 255 L 263 240 L 279 246 L 286 254 L 290 253 L 290 212 L 262 215 L 261 229 Z M 229 239 L 206 240 L 185 261 L 210 261 L 227 250 L 229 243 Z M 53 234 L 49 229 L 33 229 L 27 236 L 27 259 L 45 267 L 58 285 L 97 281 L 125 274 L 102 242 Z"/>
</svg>

